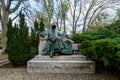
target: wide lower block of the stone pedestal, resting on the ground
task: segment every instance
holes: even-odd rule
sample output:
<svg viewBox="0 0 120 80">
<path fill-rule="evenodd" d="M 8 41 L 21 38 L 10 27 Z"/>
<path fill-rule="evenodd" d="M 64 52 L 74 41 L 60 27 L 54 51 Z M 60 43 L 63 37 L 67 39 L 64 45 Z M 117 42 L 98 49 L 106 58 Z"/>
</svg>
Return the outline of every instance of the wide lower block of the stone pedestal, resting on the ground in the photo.
<svg viewBox="0 0 120 80">
<path fill-rule="evenodd" d="M 27 63 L 28 73 L 95 73 L 95 63 L 90 60 L 35 60 Z"/>
</svg>

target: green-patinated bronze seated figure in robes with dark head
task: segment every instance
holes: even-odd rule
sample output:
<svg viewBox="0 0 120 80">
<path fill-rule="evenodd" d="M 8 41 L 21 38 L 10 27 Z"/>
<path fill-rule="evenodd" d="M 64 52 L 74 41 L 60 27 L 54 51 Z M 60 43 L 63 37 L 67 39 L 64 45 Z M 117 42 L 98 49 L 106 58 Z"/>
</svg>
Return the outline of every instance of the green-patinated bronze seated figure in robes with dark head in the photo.
<svg viewBox="0 0 120 80">
<path fill-rule="evenodd" d="M 56 25 L 53 24 L 51 29 L 40 33 L 40 36 L 47 36 L 45 47 L 42 51 L 42 55 L 71 55 L 73 54 L 71 40 L 67 35 L 56 32 Z"/>
</svg>

